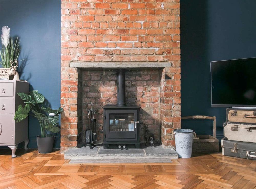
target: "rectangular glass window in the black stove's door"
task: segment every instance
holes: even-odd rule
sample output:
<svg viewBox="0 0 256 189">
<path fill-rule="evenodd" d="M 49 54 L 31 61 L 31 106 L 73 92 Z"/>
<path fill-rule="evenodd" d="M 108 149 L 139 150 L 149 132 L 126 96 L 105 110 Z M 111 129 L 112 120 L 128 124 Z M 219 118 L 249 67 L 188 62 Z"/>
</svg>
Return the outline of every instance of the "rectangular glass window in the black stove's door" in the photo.
<svg viewBox="0 0 256 189">
<path fill-rule="evenodd" d="M 134 114 L 109 114 L 109 131 L 134 131 Z"/>
</svg>

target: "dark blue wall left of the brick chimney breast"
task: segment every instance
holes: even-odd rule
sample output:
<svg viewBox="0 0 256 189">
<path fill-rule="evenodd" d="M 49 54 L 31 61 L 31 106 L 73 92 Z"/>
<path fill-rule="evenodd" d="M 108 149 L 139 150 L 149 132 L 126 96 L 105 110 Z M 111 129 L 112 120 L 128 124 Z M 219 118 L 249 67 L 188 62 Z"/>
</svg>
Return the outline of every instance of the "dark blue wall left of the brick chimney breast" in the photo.
<svg viewBox="0 0 256 189">
<path fill-rule="evenodd" d="M 19 70 L 20 79 L 27 80 L 30 90 L 38 90 L 57 109 L 60 106 L 61 0 L 0 0 L 0 27 L 5 25 L 11 28 L 12 36 L 20 38 L 19 60 L 25 59 L 26 64 Z M 30 117 L 29 147 L 37 147 L 37 135 L 40 135 L 39 123 Z M 60 146 L 59 137 L 55 146 Z"/>
</svg>

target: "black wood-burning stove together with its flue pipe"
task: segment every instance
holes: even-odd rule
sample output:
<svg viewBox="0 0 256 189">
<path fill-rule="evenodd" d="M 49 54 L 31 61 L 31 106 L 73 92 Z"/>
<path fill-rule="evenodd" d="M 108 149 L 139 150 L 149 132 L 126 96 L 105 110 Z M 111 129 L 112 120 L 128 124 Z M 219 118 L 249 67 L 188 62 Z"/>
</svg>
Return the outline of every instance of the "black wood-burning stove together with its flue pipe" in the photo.
<svg viewBox="0 0 256 189">
<path fill-rule="evenodd" d="M 126 106 L 125 70 L 117 71 L 117 104 L 103 107 L 103 148 L 140 148 L 140 107 Z"/>
</svg>

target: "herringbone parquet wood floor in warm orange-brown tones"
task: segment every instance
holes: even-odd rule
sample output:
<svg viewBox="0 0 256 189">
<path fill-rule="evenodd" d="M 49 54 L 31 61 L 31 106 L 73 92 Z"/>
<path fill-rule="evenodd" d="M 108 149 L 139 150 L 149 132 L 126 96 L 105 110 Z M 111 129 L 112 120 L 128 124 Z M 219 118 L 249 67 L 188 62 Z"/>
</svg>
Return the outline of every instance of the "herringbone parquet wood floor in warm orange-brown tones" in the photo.
<svg viewBox="0 0 256 189">
<path fill-rule="evenodd" d="M 221 153 L 151 164 L 69 164 L 59 151 L 17 153 L 12 159 L 1 149 L 0 188 L 256 188 L 256 161 Z"/>
</svg>

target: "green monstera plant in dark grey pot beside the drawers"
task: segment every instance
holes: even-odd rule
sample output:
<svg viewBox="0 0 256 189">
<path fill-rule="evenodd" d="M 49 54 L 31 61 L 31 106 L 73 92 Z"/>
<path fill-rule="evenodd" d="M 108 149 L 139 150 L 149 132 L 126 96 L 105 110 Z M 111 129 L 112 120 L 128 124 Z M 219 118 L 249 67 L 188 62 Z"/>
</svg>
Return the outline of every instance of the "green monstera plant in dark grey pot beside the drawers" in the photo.
<svg viewBox="0 0 256 189">
<path fill-rule="evenodd" d="M 28 116 L 34 116 L 38 119 L 41 129 L 41 135 L 37 136 L 37 146 L 40 153 L 49 153 L 52 151 L 54 143 L 54 135 L 60 131 L 59 126 L 59 114 L 62 112 L 60 107 L 57 110 L 49 107 L 44 107 L 43 103 L 45 97 L 38 93 L 38 91 L 30 91 L 29 94 L 18 93 L 18 96 L 26 104 L 18 106 L 18 110 L 15 112 L 14 120 L 17 122 L 26 119 Z M 51 148 L 51 149 L 50 149 Z"/>
</svg>

